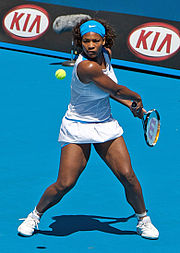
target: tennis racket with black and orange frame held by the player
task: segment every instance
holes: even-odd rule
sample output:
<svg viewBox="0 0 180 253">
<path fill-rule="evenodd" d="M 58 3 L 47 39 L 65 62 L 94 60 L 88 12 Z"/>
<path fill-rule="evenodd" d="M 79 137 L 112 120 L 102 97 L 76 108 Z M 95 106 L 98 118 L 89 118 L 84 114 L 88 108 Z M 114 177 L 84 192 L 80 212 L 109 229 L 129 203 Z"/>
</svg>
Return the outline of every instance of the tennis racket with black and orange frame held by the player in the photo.
<svg viewBox="0 0 180 253">
<path fill-rule="evenodd" d="M 132 108 L 136 108 L 137 103 L 132 103 Z M 152 109 L 144 114 L 142 118 L 144 137 L 148 146 L 154 147 L 158 141 L 160 133 L 160 115 L 156 109 Z"/>
</svg>

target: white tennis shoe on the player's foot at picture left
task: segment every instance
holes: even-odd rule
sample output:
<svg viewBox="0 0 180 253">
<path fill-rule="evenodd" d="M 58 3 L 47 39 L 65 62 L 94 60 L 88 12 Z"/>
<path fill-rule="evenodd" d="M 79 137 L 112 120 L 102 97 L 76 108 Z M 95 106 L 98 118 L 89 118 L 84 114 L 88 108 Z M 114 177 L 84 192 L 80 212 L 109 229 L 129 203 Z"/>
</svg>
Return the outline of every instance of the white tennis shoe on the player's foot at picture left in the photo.
<svg viewBox="0 0 180 253">
<path fill-rule="evenodd" d="M 34 233 L 34 230 L 38 229 L 38 223 L 40 218 L 38 218 L 33 213 L 30 213 L 27 218 L 22 218 L 19 220 L 24 220 L 23 223 L 18 227 L 19 234 L 23 236 L 31 236 Z"/>
</svg>

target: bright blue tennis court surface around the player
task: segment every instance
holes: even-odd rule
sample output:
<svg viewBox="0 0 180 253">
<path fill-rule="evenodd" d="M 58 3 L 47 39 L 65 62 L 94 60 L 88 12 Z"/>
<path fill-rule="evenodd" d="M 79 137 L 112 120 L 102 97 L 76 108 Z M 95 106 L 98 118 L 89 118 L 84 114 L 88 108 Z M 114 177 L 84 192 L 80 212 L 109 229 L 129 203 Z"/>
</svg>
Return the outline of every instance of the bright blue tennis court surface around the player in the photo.
<svg viewBox="0 0 180 253">
<path fill-rule="evenodd" d="M 72 68 L 63 67 L 67 77 L 60 81 L 54 73 L 62 60 L 3 49 L 0 57 L 0 252 L 179 252 L 180 81 L 115 69 L 119 83 L 141 94 L 146 109 L 160 112 L 160 138 L 149 148 L 141 121 L 111 101 L 160 238 L 135 233 L 124 190 L 93 148 L 75 188 L 43 216 L 39 233 L 24 238 L 17 235 L 18 219 L 56 180 Z"/>
</svg>

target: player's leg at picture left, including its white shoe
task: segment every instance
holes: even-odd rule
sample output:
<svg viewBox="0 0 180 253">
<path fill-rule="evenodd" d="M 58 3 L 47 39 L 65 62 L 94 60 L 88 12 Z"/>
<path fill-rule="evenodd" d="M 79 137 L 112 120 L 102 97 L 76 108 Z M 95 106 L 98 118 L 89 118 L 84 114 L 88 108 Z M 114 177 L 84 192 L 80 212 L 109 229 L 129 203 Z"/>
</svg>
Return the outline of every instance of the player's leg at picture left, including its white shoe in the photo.
<svg viewBox="0 0 180 253">
<path fill-rule="evenodd" d="M 57 181 L 46 189 L 36 209 L 18 227 L 21 235 L 31 236 L 38 227 L 41 215 L 72 189 L 86 167 L 90 150 L 90 144 L 69 144 L 62 148 Z"/>
</svg>

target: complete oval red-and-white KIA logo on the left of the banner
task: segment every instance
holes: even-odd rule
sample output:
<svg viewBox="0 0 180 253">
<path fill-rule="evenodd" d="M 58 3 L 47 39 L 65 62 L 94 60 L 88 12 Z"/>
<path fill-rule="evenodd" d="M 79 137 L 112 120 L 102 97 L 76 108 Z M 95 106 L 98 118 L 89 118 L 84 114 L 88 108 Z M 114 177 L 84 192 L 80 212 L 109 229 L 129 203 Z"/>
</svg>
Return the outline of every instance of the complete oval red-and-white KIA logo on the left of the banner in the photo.
<svg viewBox="0 0 180 253">
<path fill-rule="evenodd" d="M 5 15 L 3 27 L 16 40 L 35 40 L 47 31 L 49 15 L 39 6 L 19 5 Z"/>
</svg>

